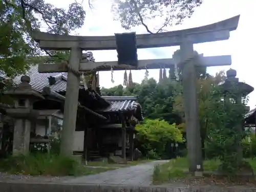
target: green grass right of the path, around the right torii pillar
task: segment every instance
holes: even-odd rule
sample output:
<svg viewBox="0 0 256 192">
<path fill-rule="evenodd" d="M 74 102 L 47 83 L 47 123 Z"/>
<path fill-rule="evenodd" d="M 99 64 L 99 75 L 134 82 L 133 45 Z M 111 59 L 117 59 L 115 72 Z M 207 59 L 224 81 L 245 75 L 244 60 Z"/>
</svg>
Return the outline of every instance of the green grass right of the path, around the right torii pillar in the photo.
<svg viewBox="0 0 256 192">
<path fill-rule="evenodd" d="M 256 170 L 256 160 L 245 159 L 248 161 L 253 170 Z M 207 172 L 215 171 L 220 165 L 219 160 L 206 160 L 203 162 L 204 170 Z M 153 173 L 153 184 L 167 183 L 186 179 L 188 174 L 187 158 L 177 158 L 168 161 L 162 165 L 156 165 Z"/>
</svg>

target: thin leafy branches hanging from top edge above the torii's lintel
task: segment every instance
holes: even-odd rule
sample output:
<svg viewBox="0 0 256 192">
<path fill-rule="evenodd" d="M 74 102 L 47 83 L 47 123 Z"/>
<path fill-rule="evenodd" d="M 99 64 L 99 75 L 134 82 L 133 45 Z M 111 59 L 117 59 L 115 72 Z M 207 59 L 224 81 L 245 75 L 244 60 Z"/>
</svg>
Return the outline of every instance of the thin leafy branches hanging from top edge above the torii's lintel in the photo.
<svg viewBox="0 0 256 192">
<path fill-rule="evenodd" d="M 163 32 L 165 27 L 179 25 L 185 18 L 191 17 L 194 9 L 202 2 L 203 0 L 115 0 L 112 12 L 124 29 L 142 25 L 148 33 L 158 33 Z M 157 17 L 163 18 L 163 22 L 153 32 L 146 20 Z"/>
</svg>

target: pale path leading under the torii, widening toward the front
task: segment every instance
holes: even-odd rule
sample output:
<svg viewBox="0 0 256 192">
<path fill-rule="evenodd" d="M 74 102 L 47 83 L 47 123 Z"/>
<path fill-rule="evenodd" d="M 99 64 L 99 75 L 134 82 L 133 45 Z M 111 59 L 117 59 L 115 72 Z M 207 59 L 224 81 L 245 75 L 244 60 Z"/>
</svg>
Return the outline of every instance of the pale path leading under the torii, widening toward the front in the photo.
<svg viewBox="0 0 256 192">
<path fill-rule="evenodd" d="M 167 161 L 153 161 L 136 166 L 109 170 L 96 175 L 82 176 L 75 179 L 67 179 L 63 183 L 91 183 L 91 184 L 133 184 L 150 185 L 154 166 Z"/>
</svg>

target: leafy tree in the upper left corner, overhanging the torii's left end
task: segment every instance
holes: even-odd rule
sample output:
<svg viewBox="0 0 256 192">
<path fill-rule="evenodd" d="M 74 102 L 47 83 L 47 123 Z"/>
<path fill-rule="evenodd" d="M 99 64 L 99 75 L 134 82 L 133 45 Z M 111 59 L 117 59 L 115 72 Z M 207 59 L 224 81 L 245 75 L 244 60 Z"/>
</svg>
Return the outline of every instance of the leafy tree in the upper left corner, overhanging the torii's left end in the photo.
<svg viewBox="0 0 256 192">
<path fill-rule="evenodd" d="M 86 12 L 77 2 L 69 9 L 54 7 L 44 0 L 0 1 L 0 70 L 9 76 L 24 72 L 41 55 L 31 30 L 43 24 L 47 32 L 69 34 L 82 27 Z M 30 60 L 29 60 L 30 59 Z"/>
</svg>

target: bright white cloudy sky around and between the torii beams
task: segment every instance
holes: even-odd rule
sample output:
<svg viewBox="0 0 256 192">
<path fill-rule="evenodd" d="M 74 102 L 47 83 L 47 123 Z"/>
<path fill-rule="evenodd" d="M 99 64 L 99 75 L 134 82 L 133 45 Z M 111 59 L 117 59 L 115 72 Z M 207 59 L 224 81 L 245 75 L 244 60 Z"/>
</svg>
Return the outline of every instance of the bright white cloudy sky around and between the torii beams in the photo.
<svg viewBox="0 0 256 192">
<path fill-rule="evenodd" d="M 46 2 L 51 3 L 59 8 L 68 8 L 69 4 L 74 0 L 55 0 Z M 79 0 L 77 0 L 79 2 Z M 119 21 L 113 20 L 113 14 L 111 13 L 111 0 L 94 0 L 92 1 L 94 9 L 90 9 L 88 1 L 83 1 L 82 5 L 87 10 L 86 19 L 84 20 L 84 26 L 81 29 L 75 31 L 82 36 L 108 36 L 114 35 L 114 33 L 127 32 L 121 28 Z M 231 55 L 232 65 L 223 67 L 209 67 L 207 72 L 211 75 L 219 72 L 220 70 L 227 71 L 232 68 L 237 70 L 237 77 L 240 81 L 250 84 L 250 86 L 256 89 L 256 73 L 254 72 L 254 50 L 253 46 L 256 45 L 255 39 L 255 21 L 256 1 L 254 0 L 204 0 L 203 4 L 196 8 L 195 13 L 191 18 L 184 20 L 182 25 L 168 28 L 168 31 L 194 28 L 203 25 L 219 22 L 230 18 L 232 16 L 241 15 L 236 31 L 230 32 L 230 38 L 225 41 L 206 42 L 203 44 L 195 44 L 194 49 L 199 53 L 203 53 L 204 56 L 218 56 L 218 55 Z M 157 21 L 160 18 L 154 20 L 146 20 L 147 25 L 153 29 Z M 146 33 L 143 26 L 134 27 L 131 31 L 136 34 Z M 172 58 L 174 51 L 179 49 L 176 47 L 165 48 L 150 48 L 139 49 L 139 59 L 156 59 L 156 58 Z M 93 55 L 96 61 L 112 61 L 117 60 L 116 50 L 110 51 L 93 51 Z M 256 68 L 255 68 L 256 70 Z M 114 72 L 114 83 L 111 82 L 111 72 L 100 72 L 100 86 L 105 88 L 111 88 L 122 84 L 124 71 Z M 145 70 L 132 71 L 133 81 L 141 82 L 144 78 Z M 167 73 L 168 74 L 168 73 Z M 149 70 L 149 78 L 159 78 L 159 70 Z M 256 91 L 253 91 L 249 95 L 250 108 L 254 108 L 256 105 Z"/>
</svg>

